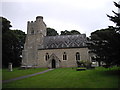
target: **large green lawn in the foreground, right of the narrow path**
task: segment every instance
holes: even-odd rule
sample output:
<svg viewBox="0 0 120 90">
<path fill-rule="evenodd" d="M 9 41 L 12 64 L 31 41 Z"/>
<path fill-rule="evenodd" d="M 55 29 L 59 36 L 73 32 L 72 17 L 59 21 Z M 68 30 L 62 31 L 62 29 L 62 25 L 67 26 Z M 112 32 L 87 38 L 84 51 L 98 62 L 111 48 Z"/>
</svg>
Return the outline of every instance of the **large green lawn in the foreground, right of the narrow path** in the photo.
<svg viewBox="0 0 120 90">
<path fill-rule="evenodd" d="M 118 88 L 118 69 L 120 70 L 119 67 L 98 67 L 93 70 L 76 71 L 75 68 L 59 68 L 4 83 L 3 88 Z"/>
</svg>

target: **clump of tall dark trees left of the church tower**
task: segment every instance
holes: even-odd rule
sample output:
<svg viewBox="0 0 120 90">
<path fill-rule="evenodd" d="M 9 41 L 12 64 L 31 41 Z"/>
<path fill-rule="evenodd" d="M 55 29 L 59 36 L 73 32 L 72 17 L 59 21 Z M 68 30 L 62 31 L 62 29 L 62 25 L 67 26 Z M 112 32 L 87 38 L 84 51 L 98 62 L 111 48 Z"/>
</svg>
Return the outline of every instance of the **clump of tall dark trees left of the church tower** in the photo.
<svg viewBox="0 0 120 90">
<path fill-rule="evenodd" d="M 2 22 L 2 65 L 7 67 L 11 62 L 13 66 L 19 66 L 25 33 L 21 30 L 10 30 L 10 21 L 3 17 L 0 19 Z"/>
</svg>

